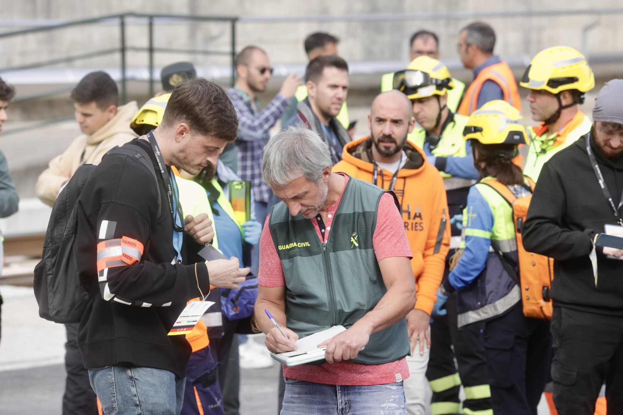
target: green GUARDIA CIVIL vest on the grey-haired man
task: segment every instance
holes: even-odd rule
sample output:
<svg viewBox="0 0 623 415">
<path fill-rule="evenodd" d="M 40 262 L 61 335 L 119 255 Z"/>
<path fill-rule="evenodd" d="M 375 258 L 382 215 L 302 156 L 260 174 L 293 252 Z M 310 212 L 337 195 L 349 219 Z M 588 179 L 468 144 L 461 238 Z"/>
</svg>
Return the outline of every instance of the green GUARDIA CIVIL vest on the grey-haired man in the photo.
<svg viewBox="0 0 623 415">
<path fill-rule="evenodd" d="M 270 234 L 285 276 L 287 327 L 299 338 L 334 325 L 351 327 L 387 292 L 373 249 L 383 189 L 349 178 L 331 234 L 320 242 L 312 221 L 273 206 Z M 380 365 L 409 354 L 406 319 L 370 335 L 357 363 Z"/>
</svg>

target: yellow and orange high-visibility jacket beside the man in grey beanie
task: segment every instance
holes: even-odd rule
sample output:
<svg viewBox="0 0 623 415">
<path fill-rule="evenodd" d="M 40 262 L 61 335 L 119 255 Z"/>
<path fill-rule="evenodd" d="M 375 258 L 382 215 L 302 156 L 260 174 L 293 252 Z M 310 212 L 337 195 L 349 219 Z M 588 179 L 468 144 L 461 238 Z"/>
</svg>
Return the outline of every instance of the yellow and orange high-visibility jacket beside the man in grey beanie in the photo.
<svg viewBox="0 0 623 415">
<path fill-rule="evenodd" d="M 538 181 L 541 169 L 558 151 L 572 145 L 578 138 L 591 131 L 592 122 L 580 110 L 566 123 L 563 128 L 554 133 L 548 131 L 544 123 L 533 126 L 530 130 L 532 142 L 526 157 L 526 166 L 523 174 Z"/>
</svg>

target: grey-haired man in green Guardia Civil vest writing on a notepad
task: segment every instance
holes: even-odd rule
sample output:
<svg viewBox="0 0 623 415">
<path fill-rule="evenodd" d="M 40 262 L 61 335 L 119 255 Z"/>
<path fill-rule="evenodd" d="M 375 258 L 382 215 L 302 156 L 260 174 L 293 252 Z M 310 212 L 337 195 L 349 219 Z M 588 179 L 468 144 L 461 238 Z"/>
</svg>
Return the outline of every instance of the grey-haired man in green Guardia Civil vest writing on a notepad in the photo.
<svg viewBox="0 0 623 415">
<path fill-rule="evenodd" d="M 326 363 L 283 368 L 282 415 L 337 414 L 342 407 L 405 414 L 405 317 L 416 287 L 396 196 L 331 173 L 328 145 L 303 126 L 269 141 L 262 176 L 282 200 L 260 239 L 255 318 L 267 347 L 292 351 L 298 338 L 347 328 L 318 345 L 326 346 Z"/>
</svg>

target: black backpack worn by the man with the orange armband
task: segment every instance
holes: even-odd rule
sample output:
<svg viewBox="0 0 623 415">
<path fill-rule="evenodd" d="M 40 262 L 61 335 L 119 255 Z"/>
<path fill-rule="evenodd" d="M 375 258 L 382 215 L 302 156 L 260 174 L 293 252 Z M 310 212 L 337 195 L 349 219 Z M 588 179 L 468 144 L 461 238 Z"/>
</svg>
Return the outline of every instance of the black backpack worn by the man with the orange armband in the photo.
<svg viewBox="0 0 623 415">
<path fill-rule="evenodd" d="M 116 154 L 136 158 L 151 171 L 158 189 L 160 216 L 160 186 L 150 156 L 141 146 L 133 144 L 115 146 L 106 156 Z M 42 259 L 34 270 L 39 317 L 55 323 L 79 323 L 92 295 L 80 284 L 75 239 L 78 197 L 93 169 L 93 165 L 80 166 L 56 198 L 45 232 Z"/>
</svg>

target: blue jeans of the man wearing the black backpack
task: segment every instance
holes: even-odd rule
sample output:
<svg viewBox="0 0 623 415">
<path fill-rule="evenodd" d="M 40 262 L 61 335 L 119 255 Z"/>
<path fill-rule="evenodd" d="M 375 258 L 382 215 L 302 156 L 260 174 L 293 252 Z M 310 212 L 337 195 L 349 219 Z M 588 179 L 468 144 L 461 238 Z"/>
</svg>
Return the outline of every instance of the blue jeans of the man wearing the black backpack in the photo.
<svg viewBox="0 0 623 415">
<path fill-rule="evenodd" d="M 88 370 L 105 415 L 179 415 L 186 378 L 140 366 L 104 366 Z"/>
</svg>

